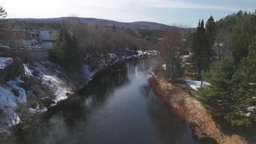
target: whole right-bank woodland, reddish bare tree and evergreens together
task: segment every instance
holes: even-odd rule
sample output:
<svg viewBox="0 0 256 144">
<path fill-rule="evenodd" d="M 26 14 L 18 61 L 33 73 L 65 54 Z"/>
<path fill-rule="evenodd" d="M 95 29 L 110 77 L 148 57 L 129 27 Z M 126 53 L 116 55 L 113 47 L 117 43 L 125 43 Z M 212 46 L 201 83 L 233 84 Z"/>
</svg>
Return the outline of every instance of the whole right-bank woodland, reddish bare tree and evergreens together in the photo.
<svg viewBox="0 0 256 144">
<path fill-rule="evenodd" d="M 199 88 L 196 98 L 211 115 L 234 127 L 255 128 L 255 13 L 238 11 L 218 21 L 210 16 L 206 23 L 199 20 L 196 32 L 183 33 L 179 26 L 170 28 L 158 43 L 165 76 L 171 77 L 172 84 L 184 76 L 202 80 L 202 85 L 210 83 Z M 185 62 L 184 47 L 190 51 Z"/>
</svg>

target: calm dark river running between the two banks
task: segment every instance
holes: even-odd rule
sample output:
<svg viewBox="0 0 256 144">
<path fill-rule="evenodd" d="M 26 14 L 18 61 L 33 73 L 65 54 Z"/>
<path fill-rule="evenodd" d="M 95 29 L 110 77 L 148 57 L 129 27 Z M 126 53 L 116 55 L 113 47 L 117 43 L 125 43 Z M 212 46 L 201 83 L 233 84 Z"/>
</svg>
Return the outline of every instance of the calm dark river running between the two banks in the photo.
<svg viewBox="0 0 256 144">
<path fill-rule="evenodd" d="M 22 143 L 197 143 L 188 124 L 179 122 L 149 88 L 146 60 L 101 77 L 80 106 L 26 134 Z"/>
</svg>

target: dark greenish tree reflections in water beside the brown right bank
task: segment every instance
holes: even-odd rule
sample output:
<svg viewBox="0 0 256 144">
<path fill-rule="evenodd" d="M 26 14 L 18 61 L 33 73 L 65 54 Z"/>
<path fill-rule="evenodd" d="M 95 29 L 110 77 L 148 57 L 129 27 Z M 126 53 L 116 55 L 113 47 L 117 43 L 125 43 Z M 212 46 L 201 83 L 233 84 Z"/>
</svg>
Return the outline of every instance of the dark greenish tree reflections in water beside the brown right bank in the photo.
<svg viewBox="0 0 256 144">
<path fill-rule="evenodd" d="M 189 125 L 179 122 L 170 108 L 152 92 L 148 85 L 142 86 L 141 91 L 145 95 L 148 115 L 164 143 L 196 143 Z"/>
</svg>

